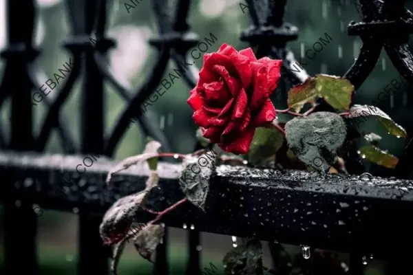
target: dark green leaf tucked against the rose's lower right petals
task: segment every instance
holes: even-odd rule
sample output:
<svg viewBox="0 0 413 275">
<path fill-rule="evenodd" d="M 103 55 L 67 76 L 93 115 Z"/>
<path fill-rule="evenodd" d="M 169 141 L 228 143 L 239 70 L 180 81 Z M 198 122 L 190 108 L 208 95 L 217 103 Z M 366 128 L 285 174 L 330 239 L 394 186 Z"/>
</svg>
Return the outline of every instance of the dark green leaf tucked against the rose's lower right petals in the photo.
<svg viewBox="0 0 413 275">
<path fill-rule="evenodd" d="M 284 135 L 273 128 L 258 127 L 248 150 L 248 161 L 260 165 L 265 159 L 277 153 L 284 141 Z"/>
</svg>

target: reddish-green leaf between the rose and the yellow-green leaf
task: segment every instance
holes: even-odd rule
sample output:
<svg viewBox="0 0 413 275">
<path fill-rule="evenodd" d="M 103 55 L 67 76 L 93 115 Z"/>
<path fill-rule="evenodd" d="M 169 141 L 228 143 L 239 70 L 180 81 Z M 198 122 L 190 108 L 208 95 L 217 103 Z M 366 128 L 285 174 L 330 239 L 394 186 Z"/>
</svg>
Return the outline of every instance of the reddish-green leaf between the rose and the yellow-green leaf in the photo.
<svg viewBox="0 0 413 275">
<path fill-rule="evenodd" d="M 296 85 L 288 91 L 288 107 L 295 109 L 298 113 L 304 104 L 315 100 L 316 97 L 315 78 L 307 78 L 306 82 Z"/>
</svg>

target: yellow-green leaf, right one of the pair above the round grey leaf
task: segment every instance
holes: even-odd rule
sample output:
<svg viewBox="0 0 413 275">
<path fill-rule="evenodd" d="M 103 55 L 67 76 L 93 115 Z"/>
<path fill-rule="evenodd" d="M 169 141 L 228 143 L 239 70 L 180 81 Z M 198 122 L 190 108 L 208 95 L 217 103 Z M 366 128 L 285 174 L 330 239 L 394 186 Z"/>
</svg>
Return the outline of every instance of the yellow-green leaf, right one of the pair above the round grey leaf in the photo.
<svg viewBox="0 0 413 275">
<path fill-rule="evenodd" d="M 346 78 L 317 74 L 315 77 L 317 95 L 337 110 L 350 109 L 354 86 Z"/>
</svg>

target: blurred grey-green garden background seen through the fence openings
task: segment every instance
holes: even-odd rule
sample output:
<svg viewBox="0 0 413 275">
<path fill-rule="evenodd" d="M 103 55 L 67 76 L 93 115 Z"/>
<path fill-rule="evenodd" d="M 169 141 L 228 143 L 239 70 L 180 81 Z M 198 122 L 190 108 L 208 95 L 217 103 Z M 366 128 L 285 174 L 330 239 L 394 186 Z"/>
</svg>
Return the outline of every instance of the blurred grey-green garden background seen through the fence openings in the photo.
<svg viewBox="0 0 413 275">
<path fill-rule="evenodd" d="M 138 2 L 138 1 L 136 1 Z M 138 87 L 150 73 L 156 51 L 147 43 L 148 39 L 156 36 L 156 25 L 153 22 L 153 14 L 149 7 L 150 1 L 140 1 L 136 8 L 125 8 L 129 1 L 114 0 L 114 7 L 110 15 L 107 36 L 117 41 L 114 50 L 109 51 L 110 65 L 118 78 L 129 80 L 133 87 Z M 240 3 L 244 1 L 233 0 L 193 0 L 189 12 L 189 23 L 191 30 L 203 39 L 209 37 L 212 32 L 218 42 L 209 47 L 208 52 L 215 52 L 222 43 L 233 45 L 237 50 L 248 47 L 239 39 L 241 30 L 250 25 L 248 10 L 242 12 Z M 5 0 L 0 0 L 0 50 L 3 50 L 6 41 L 6 5 Z M 40 12 L 36 19 L 36 45 L 41 49 L 41 55 L 37 58 L 37 65 L 45 73 L 45 80 L 53 75 L 62 65 L 69 61 L 70 55 L 63 49 L 63 39 L 67 38 L 69 27 L 67 24 L 67 10 L 62 0 L 38 0 Z M 407 8 L 411 10 L 413 5 L 407 1 Z M 297 60 L 301 56 L 302 63 L 306 63 L 305 69 L 311 76 L 324 73 L 342 76 L 350 68 L 357 58 L 361 41 L 358 36 L 347 35 L 347 25 L 350 21 L 360 21 L 361 16 L 357 12 L 354 1 L 326 1 L 326 0 L 288 0 L 284 21 L 297 25 L 299 38 L 297 41 L 288 43 L 288 47 L 294 52 Z M 332 41 L 317 53 L 313 60 L 304 56 L 305 50 L 313 47 L 313 43 L 320 37 L 328 34 Z M 198 67 L 202 65 L 202 58 L 195 63 Z M 0 73 L 3 73 L 3 60 L 0 59 Z M 173 72 L 174 65 L 169 64 L 167 72 Z M 388 56 L 384 51 L 377 63 L 376 68 L 357 91 L 355 100 L 359 104 L 372 104 L 377 100 L 377 94 L 390 84 L 390 81 L 399 74 L 396 72 Z M 107 85 L 106 89 L 106 127 L 112 129 L 118 116 L 125 107 L 125 103 Z M 397 102 L 407 102 L 407 90 L 405 85 L 397 91 L 390 102 L 381 102 L 383 110 L 388 111 L 390 116 L 399 122 L 403 120 L 406 126 L 408 118 L 413 118 L 412 111 L 406 107 L 398 107 Z M 59 89 L 58 89 L 59 90 Z M 160 129 L 165 132 L 174 152 L 189 153 L 195 146 L 196 126 L 191 119 L 193 111 L 187 104 L 190 88 L 182 79 L 176 83 L 159 100 L 149 106 L 148 113 L 153 123 L 159 124 Z M 52 94 L 56 89 L 52 91 Z M 65 102 L 64 113 L 70 118 L 70 130 L 72 135 L 79 138 L 79 114 L 78 103 L 81 100 L 79 82 L 74 85 L 74 91 Z M 411 101 L 411 100 L 410 100 Z M 284 107 L 286 102 L 275 102 L 276 107 Z M 46 107 L 40 102 L 34 107 L 35 122 L 34 129 L 39 130 L 41 120 L 44 118 Z M 3 124 L 10 124 L 10 110 L 3 108 L 1 120 Z M 372 126 L 374 127 L 374 125 Z M 408 128 L 408 127 L 407 127 Z M 394 137 L 383 133 L 381 129 L 374 129 L 383 137 L 381 148 L 387 148 L 390 153 L 398 155 L 405 147 L 405 140 L 399 139 L 394 142 Z M 411 131 L 409 131 L 411 133 Z M 123 137 L 116 159 L 125 159 L 130 155 L 142 152 L 145 136 L 136 124 L 131 124 L 127 134 Z M 56 132 L 47 144 L 47 152 L 59 153 L 61 148 L 57 142 Z M 366 163 L 366 166 L 370 164 Z M 0 216 L 2 208 L 0 206 Z M 41 274 L 75 274 L 78 219 L 75 213 L 55 212 L 44 210 L 39 217 L 39 263 Z M 0 230 L 3 227 L 0 226 Z M 171 261 L 172 274 L 184 274 L 187 260 L 187 234 L 184 229 L 172 228 L 170 230 L 169 257 Z M 3 242 L 3 232 L 0 231 L 0 248 Z M 265 243 L 265 242 L 264 242 Z M 224 254 L 233 247 L 231 236 L 202 233 L 202 267 L 209 267 L 212 262 L 222 271 L 222 258 Z M 268 249 L 264 245 L 264 265 L 270 267 L 271 261 L 268 257 Z M 19 248 L 24 250 L 25 248 Z M 288 247 L 288 250 L 299 251 L 298 248 Z M 343 259 L 346 259 L 344 256 Z M 3 251 L 0 249 L 0 265 L 3 263 Z M 151 263 L 144 261 L 134 251 L 131 244 L 120 261 L 120 274 L 151 274 Z M 370 261 L 367 274 L 382 274 L 381 263 Z M 222 274 L 217 272 L 216 274 Z"/>
</svg>

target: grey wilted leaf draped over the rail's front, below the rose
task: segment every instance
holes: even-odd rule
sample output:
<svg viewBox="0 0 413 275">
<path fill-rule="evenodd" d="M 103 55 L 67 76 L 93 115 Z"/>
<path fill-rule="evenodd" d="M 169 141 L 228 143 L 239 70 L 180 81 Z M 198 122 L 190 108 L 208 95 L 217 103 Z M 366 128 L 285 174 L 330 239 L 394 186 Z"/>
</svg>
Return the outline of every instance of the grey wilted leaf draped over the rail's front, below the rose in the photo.
<svg viewBox="0 0 413 275">
<path fill-rule="evenodd" d="M 205 200 L 209 191 L 209 177 L 215 167 L 214 151 L 211 155 L 204 153 L 200 157 L 187 157 L 182 162 L 184 167 L 179 185 L 191 203 L 204 210 Z M 212 153 L 213 152 L 213 153 Z"/>
</svg>

